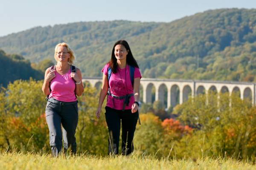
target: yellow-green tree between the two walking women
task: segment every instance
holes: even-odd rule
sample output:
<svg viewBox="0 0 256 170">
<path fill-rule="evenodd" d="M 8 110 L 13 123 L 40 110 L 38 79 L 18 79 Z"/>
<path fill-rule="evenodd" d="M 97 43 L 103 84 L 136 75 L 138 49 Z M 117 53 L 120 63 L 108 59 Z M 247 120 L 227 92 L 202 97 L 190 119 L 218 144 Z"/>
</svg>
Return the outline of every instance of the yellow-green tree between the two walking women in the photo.
<svg viewBox="0 0 256 170">
<path fill-rule="evenodd" d="M 79 121 L 76 130 L 77 150 L 90 154 L 108 154 L 108 127 L 102 109 L 100 119 L 95 112 L 98 106 L 99 91 L 87 86 L 79 100 Z"/>
</svg>

